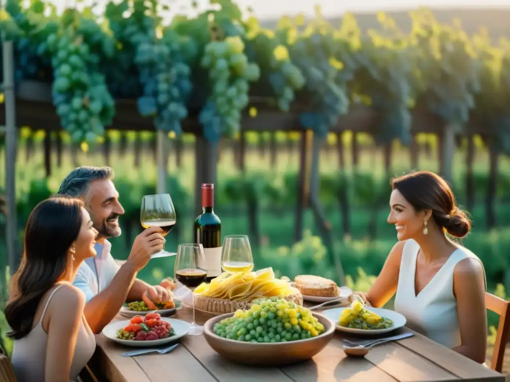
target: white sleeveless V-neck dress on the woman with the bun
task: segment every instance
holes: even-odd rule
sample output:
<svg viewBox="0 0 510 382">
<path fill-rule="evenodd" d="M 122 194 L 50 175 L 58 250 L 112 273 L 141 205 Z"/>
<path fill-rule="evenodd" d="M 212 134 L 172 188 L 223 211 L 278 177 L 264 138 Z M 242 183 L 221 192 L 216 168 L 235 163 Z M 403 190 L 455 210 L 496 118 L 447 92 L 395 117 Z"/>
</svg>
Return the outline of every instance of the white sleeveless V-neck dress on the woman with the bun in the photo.
<svg viewBox="0 0 510 382">
<path fill-rule="evenodd" d="M 460 346 L 457 302 L 453 294 L 453 270 L 459 261 L 468 257 L 478 261 L 480 259 L 468 249 L 458 247 L 432 280 L 416 295 L 416 258 L 419 250 L 420 246 L 412 239 L 404 244 L 395 311 L 405 316 L 406 326 L 416 332 L 448 348 Z"/>
</svg>

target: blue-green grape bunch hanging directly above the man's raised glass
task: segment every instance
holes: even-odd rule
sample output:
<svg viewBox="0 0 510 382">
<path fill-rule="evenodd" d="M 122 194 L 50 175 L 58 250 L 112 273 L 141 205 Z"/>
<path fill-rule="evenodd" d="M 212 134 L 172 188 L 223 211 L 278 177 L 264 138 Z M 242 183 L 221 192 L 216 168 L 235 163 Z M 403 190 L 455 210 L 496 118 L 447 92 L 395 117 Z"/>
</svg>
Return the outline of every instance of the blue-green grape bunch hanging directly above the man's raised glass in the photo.
<svg viewBox="0 0 510 382">
<path fill-rule="evenodd" d="M 173 29 L 165 29 L 157 36 L 159 19 L 147 3 L 138 2 L 134 13 L 127 18 L 118 18 L 123 5 L 109 4 L 110 28 L 123 50 L 130 51 L 134 70 L 138 74 L 133 96 L 137 98 L 140 115 L 153 120 L 157 129 L 181 133 L 181 122 L 188 116 L 186 102 L 192 90 L 191 70 L 183 56 L 188 41 L 184 41 Z M 119 56 L 118 66 L 133 70 Z M 131 73 L 111 74 L 119 81 L 129 80 Z M 124 92 L 120 87 L 118 92 Z"/>
</svg>

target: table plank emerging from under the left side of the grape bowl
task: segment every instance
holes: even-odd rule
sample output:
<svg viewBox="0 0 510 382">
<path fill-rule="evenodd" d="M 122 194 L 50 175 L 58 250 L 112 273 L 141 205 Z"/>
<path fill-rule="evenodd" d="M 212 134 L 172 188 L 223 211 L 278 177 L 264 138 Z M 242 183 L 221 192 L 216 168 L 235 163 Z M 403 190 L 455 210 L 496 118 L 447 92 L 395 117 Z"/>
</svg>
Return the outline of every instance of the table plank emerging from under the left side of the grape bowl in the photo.
<svg viewBox="0 0 510 382">
<path fill-rule="evenodd" d="M 228 361 L 214 351 L 203 336 L 187 336 L 183 344 L 219 382 L 292 382 L 292 379 L 275 367 L 245 366 Z"/>
</svg>

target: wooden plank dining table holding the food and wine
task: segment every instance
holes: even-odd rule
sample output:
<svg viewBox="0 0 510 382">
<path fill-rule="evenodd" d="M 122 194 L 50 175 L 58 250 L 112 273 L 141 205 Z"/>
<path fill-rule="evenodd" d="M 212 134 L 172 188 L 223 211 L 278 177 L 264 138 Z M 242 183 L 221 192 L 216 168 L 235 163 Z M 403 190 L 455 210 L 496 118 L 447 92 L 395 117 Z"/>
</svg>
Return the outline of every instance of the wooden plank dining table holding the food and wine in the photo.
<svg viewBox="0 0 510 382">
<path fill-rule="evenodd" d="M 198 324 L 211 317 L 195 311 Z M 191 322 L 192 310 L 183 306 L 171 318 Z M 116 319 L 126 318 L 119 315 Z M 403 328 L 400 331 L 411 330 Z M 122 353 L 134 348 L 99 334 L 96 335 L 96 352 L 89 365 L 98 380 L 111 382 L 505 381 L 504 375 L 416 332 L 412 337 L 375 346 L 363 358 L 346 356 L 342 350 L 343 336 L 337 331 L 322 351 L 304 363 L 253 367 L 220 357 L 203 335 L 181 338 L 181 344 L 167 354 L 124 357 Z"/>
</svg>

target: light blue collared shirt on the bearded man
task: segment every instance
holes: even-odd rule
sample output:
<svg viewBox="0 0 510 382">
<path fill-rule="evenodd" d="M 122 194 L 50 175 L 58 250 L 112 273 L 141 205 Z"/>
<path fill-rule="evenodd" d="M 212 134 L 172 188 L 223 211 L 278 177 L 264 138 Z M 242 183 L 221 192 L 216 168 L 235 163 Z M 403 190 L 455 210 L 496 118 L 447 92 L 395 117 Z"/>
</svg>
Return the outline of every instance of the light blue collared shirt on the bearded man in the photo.
<svg viewBox="0 0 510 382">
<path fill-rule="evenodd" d="M 110 284 L 119 270 L 119 265 L 110 253 L 112 244 L 108 240 L 105 239 L 104 243 L 96 242 L 94 248 L 96 256 L 83 261 L 72 283 L 85 293 L 87 303 Z"/>
</svg>

